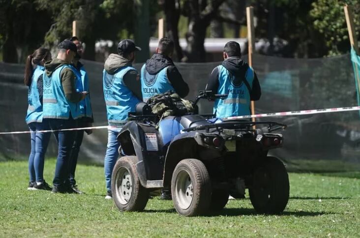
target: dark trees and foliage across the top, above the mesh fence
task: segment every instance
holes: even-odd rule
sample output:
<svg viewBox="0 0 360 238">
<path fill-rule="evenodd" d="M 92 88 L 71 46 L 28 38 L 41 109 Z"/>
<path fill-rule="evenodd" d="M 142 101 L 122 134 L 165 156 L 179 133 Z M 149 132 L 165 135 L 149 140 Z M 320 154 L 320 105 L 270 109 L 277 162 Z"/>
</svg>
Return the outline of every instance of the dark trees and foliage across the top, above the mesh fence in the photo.
<svg viewBox="0 0 360 238">
<path fill-rule="evenodd" d="M 77 20 L 81 23 L 80 37 L 87 44 L 84 57 L 94 59 L 93 46 L 100 39 L 116 43 L 121 38 L 137 38 L 146 45 L 144 39 L 155 32 L 156 18 L 163 12 L 167 35 L 176 43 L 176 58 L 201 62 L 206 58 L 204 41 L 210 23 L 219 31 L 224 23 L 232 24 L 235 36 L 239 35 L 240 24 L 246 24 L 246 4 L 255 8 L 256 38 L 268 39 L 270 48 L 274 47 L 274 37 L 288 42 L 283 56 L 321 57 L 348 52 L 345 4 L 353 6 L 356 32 L 360 31 L 359 0 L 0 0 L 0 51 L 6 62 L 23 62 L 41 45 L 52 47 L 70 37 L 72 21 Z M 144 12 L 145 8 L 148 11 Z M 180 19 L 186 19 L 185 51 L 179 44 L 183 37 L 179 33 Z"/>
</svg>

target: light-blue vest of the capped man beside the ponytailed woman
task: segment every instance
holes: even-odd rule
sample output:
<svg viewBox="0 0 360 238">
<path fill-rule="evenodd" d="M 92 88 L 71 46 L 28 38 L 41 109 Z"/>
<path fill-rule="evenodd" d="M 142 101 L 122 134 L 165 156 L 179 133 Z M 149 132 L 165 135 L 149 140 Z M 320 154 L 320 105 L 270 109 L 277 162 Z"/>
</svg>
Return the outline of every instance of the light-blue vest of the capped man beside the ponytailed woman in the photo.
<svg viewBox="0 0 360 238">
<path fill-rule="evenodd" d="M 60 79 L 61 71 L 70 68 L 69 65 L 62 65 L 48 77 L 46 72 L 43 74 L 43 116 L 44 118 L 73 119 L 80 117 L 79 103 L 72 103 L 65 97 Z M 70 68 L 71 69 L 71 68 Z"/>
</svg>

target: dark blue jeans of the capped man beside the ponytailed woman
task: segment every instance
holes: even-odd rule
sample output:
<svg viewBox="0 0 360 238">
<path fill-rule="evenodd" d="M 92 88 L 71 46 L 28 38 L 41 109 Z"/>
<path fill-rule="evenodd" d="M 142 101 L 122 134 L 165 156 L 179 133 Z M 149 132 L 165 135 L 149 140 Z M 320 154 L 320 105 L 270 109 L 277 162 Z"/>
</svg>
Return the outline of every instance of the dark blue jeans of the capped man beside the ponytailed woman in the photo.
<svg viewBox="0 0 360 238">
<path fill-rule="evenodd" d="M 73 119 L 48 119 L 52 130 L 76 128 L 76 120 Z M 68 183 L 68 167 L 72 144 L 74 143 L 75 131 L 54 132 L 58 142 L 58 158 L 55 166 L 53 184 L 56 187 L 63 187 Z"/>
</svg>

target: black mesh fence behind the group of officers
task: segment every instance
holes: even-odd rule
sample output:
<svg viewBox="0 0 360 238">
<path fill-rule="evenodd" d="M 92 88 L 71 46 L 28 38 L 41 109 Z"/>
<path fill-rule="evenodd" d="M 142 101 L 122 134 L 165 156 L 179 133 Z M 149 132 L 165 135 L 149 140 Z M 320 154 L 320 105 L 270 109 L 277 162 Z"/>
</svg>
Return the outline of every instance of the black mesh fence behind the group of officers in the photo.
<svg viewBox="0 0 360 238">
<path fill-rule="evenodd" d="M 243 56 L 245 59 L 246 55 Z M 256 113 L 356 106 L 356 84 L 350 55 L 320 59 L 292 59 L 254 55 L 254 69 L 262 87 L 255 103 Z M 107 124 L 102 90 L 103 64 L 83 60 L 90 78 L 94 126 Z M 190 86 L 187 99 L 205 89 L 210 72 L 219 63 L 178 63 Z M 141 65 L 135 64 L 139 70 Z M 24 65 L 0 63 L 0 132 L 26 131 L 27 87 L 23 84 Z M 201 113 L 211 113 L 212 104 L 200 102 Z M 291 170 L 360 170 L 359 112 L 336 112 L 303 116 L 262 118 L 288 125 L 284 147 L 271 154 Z M 47 157 L 55 156 L 55 138 Z M 103 163 L 107 130 L 84 136 L 79 159 Z M 26 159 L 30 152 L 29 134 L 0 135 L 0 160 Z"/>
</svg>

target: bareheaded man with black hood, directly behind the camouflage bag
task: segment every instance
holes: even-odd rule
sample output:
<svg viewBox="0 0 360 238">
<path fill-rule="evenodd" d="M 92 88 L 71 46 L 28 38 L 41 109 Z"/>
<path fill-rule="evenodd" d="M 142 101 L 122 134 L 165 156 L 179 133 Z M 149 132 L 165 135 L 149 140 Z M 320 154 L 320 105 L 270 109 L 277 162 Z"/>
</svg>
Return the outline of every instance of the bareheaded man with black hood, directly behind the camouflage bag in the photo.
<svg viewBox="0 0 360 238">
<path fill-rule="evenodd" d="M 174 42 L 167 37 L 161 38 L 158 46 L 149 60 L 141 68 L 141 88 L 143 100 L 166 91 L 175 91 L 181 98 L 189 93 L 189 86 L 182 79 L 171 56 L 174 52 Z"/>
</svg>

